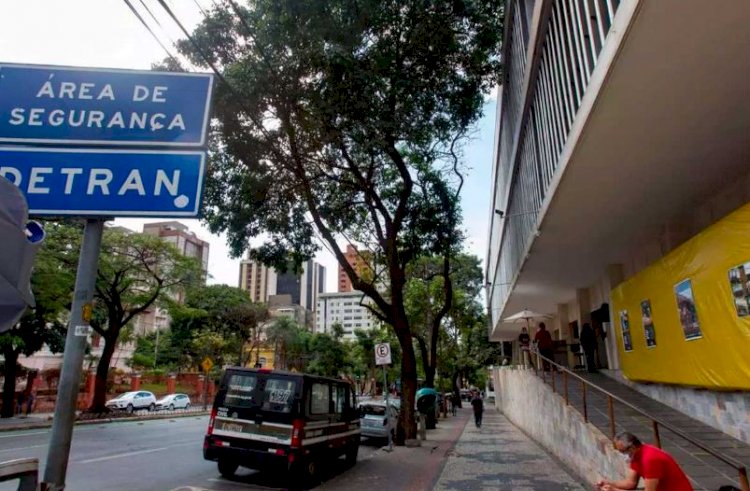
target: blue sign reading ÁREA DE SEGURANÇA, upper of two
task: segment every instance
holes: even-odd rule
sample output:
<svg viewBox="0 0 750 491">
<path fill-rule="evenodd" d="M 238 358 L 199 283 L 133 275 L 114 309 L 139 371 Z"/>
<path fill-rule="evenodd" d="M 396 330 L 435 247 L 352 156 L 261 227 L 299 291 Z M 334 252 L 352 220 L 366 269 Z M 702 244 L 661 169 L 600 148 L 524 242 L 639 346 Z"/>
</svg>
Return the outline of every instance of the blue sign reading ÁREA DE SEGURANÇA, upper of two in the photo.
<svg viewBox="0 0 750 491">
<path fill-rule="evenodd" d="M 213 76 L 0 64 L 0 142 L 205 145 Z"/>
</svg>

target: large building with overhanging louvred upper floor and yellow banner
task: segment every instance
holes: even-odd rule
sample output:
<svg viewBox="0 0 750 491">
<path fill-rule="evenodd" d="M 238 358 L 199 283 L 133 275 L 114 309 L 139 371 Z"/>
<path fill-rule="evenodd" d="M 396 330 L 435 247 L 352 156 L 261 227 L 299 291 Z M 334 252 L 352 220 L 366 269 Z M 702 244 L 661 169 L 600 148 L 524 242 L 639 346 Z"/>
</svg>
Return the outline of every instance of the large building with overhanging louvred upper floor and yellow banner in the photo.
<svg viewBox="0 0 750 491">
<path fill-rule="evenodd" d="M 591 323 L 600 368 L 726 428 L 720 394 L 750 407 L 750 4 L 702 6 L 507 3 L 486 286 L 491 340 L 533 310 L 575 365 Z"/>
</svg>

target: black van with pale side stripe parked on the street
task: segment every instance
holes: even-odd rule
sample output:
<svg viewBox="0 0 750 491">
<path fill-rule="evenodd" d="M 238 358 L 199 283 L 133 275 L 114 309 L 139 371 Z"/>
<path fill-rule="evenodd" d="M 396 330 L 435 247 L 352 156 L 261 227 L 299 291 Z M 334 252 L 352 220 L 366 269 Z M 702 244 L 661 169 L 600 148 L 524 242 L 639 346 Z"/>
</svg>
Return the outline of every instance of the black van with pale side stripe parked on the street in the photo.
<svg viewBox="0 0 750 491">
<path fill-rule="evenodd" d="M 276 469 L 292 488 L 320 466 L 359 451 L 354 388 L 344 380 L 264 368 L 228 368 L 214 399 L 203 457 L 231 477 L 239 466 Z"/>
</svg>

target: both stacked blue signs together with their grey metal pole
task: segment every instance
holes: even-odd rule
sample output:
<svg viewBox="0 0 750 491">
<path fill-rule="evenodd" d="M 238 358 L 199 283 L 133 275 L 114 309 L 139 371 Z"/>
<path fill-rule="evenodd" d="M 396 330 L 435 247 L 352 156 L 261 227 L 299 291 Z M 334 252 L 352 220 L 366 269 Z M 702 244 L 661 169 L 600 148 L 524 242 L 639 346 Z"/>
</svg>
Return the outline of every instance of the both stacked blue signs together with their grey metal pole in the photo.
<svg viewBox="0 0 750 491">
<path fill-rule="evenodd" d="M 209 74 L 0 64 L 0 142 L 28 145 L 0 147 L 0 176 L 31 214 L 88 217 L 44 489 L 65 488 L 104 219 L 198 215 L 212 89 Z"/>
</svg>

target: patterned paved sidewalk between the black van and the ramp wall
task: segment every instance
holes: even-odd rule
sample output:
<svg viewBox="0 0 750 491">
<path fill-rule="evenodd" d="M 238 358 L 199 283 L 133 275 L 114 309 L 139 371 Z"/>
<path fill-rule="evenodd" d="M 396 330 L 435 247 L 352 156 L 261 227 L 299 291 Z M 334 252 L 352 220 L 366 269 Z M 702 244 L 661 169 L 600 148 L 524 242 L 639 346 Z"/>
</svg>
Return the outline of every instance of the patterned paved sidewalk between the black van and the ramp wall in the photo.
<svg viewBox="0 0 750 491">
<path fill-rule="evenodd" d="M 419 448 L 394 447 L 361 459 L 316 488 L 324 491 L 474 491 L 585 489 L 562 466 L 493 407 L 481 429 L 471 408 L 438 420 Z"/>
</svg>

